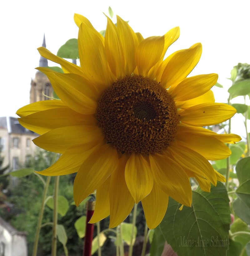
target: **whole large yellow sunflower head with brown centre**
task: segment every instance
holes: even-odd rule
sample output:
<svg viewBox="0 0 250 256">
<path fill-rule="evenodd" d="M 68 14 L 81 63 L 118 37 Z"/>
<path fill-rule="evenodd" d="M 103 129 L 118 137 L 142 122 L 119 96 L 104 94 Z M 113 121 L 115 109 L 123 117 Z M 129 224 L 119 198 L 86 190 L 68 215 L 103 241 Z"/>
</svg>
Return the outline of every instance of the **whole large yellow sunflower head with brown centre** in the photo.
<svg viewBox="0 0 250 256">
<path fill-rule="evenodd" d="M 143 38 L 120 17 L 107 17 L 105 38 L 87 18 L 75 14 L 79 27 L 80 67 L 53 55 L 64 73 L 45 73 L 60 100 L 32 103 L 17 111 L 20 124 L 38 134 L 33 142 L 62 155 L 42 175 L 76 173 L 73 191 L 78 206 L 96 190 L 91 223 L 110 215 L 121 223 L 134 203 L 142 202 L 149 228 L 163 219 L 168 196 L 191 206 L 189 178 L 204 191 L 225 178 L 208 160 L 227 158 L 235 134 L 217 134 L 203 126 L 221 123 L 236 110 L 214 103 L 210 90 L 217 74 L 187 77 L 202 46 L 163 58 L 179 37 L 179 28 Z"/>
</svg>

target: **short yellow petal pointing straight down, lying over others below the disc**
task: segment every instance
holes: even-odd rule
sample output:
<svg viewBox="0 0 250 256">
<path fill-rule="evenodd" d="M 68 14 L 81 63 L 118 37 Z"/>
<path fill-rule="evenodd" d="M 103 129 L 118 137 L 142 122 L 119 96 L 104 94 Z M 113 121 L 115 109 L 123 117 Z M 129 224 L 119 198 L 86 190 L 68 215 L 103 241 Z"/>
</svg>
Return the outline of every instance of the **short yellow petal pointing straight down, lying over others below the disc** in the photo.
<svg viewBox="0 0 250 256">
<path fill-rule="evenodd" d="M 130 155 L 125 167 L 125 180 L 136 203 L 152 190 L 153 175 L 148 161 L 141 154 Z"/>
</svg>

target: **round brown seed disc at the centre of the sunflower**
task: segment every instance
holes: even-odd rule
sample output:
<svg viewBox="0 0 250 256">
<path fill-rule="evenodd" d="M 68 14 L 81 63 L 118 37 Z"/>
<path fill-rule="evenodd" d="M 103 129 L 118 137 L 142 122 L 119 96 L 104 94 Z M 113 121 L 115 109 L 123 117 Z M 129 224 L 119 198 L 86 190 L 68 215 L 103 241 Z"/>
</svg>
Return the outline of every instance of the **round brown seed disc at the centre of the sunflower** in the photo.
<svg viewBox="0 0 250 256">
<path fill-rule="evenodd" d="M 167 148 L 179 123 L 167 90 L 138 75 L 125 76 L 103 92 L 97 119 L 118 151 L 145 154 Z"/>
</svg>

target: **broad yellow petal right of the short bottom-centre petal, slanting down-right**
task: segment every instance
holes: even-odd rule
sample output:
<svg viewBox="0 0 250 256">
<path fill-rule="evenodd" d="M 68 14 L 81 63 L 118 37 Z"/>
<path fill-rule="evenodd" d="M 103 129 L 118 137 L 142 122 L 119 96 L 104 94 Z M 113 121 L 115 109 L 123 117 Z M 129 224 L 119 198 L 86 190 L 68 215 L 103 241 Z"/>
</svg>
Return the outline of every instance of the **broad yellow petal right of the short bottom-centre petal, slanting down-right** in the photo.
<svg viewBox="0 0 250 256">
<path fill-rule="evenodd" d="M 166 155 L 149 154 L 149 160 L 157 185 L 177 202 L 191 206 L 192 190 L 183 168 Z"/>
</svg>

